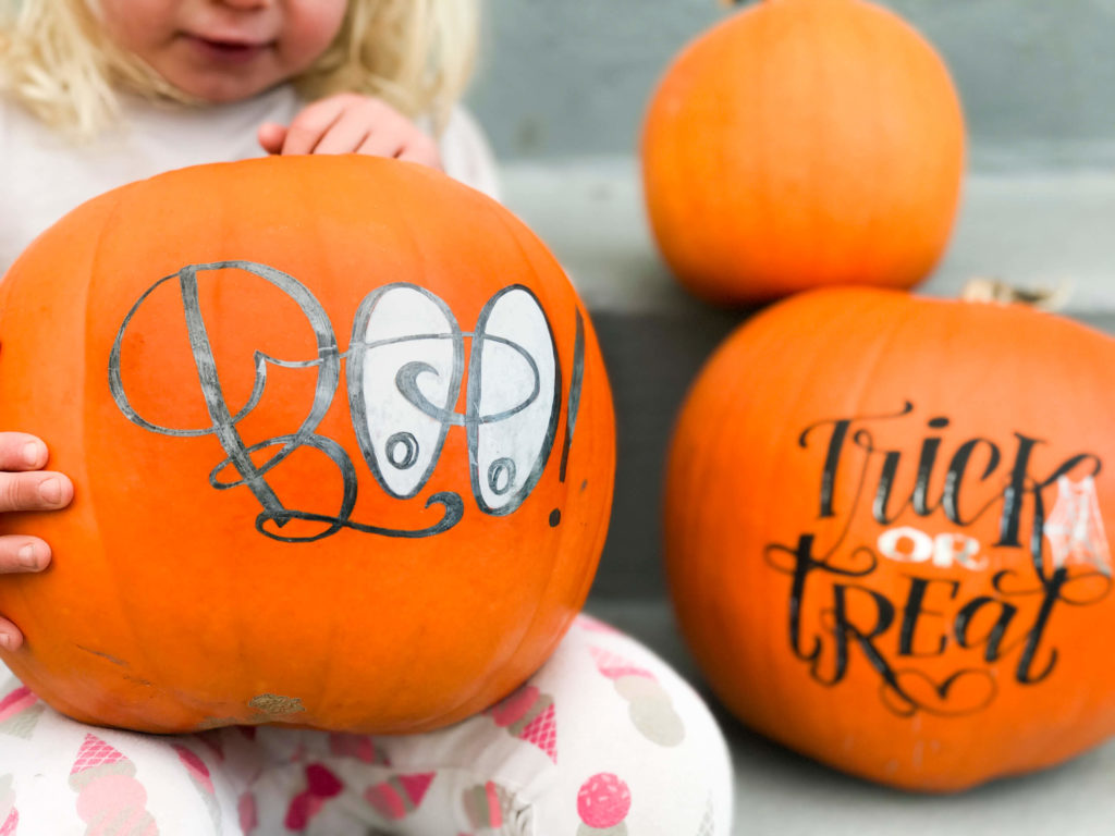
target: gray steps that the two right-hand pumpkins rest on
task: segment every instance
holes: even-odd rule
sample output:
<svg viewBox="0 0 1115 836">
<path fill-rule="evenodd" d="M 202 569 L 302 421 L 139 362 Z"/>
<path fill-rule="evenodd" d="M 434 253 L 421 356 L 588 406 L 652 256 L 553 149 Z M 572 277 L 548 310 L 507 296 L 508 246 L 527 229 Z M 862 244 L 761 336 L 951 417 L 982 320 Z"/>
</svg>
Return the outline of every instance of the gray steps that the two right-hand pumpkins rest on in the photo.
<svg viewBox="0 0 1115 836">
<path fill-rule="evenodd" d="M 615 393 L 615 505 L 589 609 L 700 689 L 666 603 L 655 508 L 662 450 L 685 388 L 746 312 L 714 310 L 677 289 L 650 243 L 630 159 L 511 166 L 505 202 L 581 290 Z M 920 292 L 954 295 L 972 275 L 1028 288 L 1067 285 L 1069 315 L 1115 331 L 1115 174 L 970 177 L 948 256 Z M 653 364 L 646 362 L 651 350 Z M 719 716 L 734 754 L 734 833 L 740 836 L 1115 834 L 1115 742 L 1026 778 L 958 796 L 919 796 L 845 777 Z"/>
</svg>

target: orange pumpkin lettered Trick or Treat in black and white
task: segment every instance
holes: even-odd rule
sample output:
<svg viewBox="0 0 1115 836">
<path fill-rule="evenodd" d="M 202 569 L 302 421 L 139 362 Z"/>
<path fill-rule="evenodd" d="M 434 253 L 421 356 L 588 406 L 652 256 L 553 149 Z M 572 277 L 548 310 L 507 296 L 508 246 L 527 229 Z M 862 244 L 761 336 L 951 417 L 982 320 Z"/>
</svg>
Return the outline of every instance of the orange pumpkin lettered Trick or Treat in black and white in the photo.
<svg viewBox="0 0 1115 836">
<path fill-rule="evenodd" d="M 746 723 L 954 790 L 1115 732 L 1115 340 L 830 289 L 709 360 L 669 456 L 683 633 Z"/>
</svg>

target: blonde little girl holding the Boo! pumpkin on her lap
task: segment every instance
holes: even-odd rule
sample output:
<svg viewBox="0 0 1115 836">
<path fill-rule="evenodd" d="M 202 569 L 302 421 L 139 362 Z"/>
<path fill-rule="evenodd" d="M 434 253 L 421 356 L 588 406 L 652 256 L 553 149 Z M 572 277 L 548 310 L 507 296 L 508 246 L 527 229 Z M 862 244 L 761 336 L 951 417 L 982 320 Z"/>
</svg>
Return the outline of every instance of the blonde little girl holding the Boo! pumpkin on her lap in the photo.
<svg viewBox="0 0 1115 836">
<path fill-rule="evenodd" d="M 474 2 L 0 0 L 0 273 L 86 198 L 195 163 L 372 154 L 493 194 L 455 105 Z M 0 432 L 0 512 L 70 502 L 47 459 L 35 436 Z M 0 537 L 0 572 L 49 562 L 49 544 Z M 0 618 L 0 645 L 21 643 Z M 584 616 L 502 702 L 414 736 L 86 727 L 0 665 L 0 836 L 725 836 L 730 813 L 700 699 Z"/>
</svg>

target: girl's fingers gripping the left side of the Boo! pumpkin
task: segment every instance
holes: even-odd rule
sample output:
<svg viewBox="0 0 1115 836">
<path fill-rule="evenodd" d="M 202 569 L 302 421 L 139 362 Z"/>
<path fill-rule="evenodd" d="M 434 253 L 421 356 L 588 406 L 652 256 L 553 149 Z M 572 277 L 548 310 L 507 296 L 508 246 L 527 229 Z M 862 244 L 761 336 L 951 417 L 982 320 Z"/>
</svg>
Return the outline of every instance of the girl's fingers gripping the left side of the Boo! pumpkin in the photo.
<svg viewBox="0 0 1115 836">
<path fill-rule="evenodd" d="M 47 446 L 26 432 L 0 432 L 0 512 L 55 511 L 69 505 L 74 484 L 60 473 L 42 470 Z M 0 573 L 41 572 L 50 563 L 50 546 L 22 534 L 0 536 Z M 0 616 L 0 647 L 23 643 L 19 628 Z"/>
</svg>

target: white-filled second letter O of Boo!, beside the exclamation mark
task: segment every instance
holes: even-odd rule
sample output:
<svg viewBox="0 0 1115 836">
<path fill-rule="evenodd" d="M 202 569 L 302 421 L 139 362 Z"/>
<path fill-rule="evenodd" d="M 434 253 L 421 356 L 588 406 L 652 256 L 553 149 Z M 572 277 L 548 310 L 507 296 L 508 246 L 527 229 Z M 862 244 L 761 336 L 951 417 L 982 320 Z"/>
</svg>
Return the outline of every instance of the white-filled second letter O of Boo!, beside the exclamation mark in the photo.
<svg viewBox="0 0 1115 836">
<path fill-rule="evenodd" d="M 561 370 L 537 299 L 512 285 L 485 305 L 468 367 L 473 494 L 488 514 L 510 514 L 537 483 L 553 447 Z"/>
</svg>

